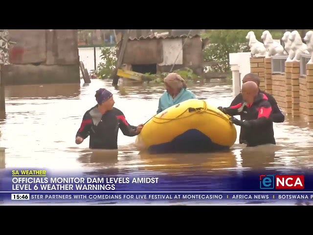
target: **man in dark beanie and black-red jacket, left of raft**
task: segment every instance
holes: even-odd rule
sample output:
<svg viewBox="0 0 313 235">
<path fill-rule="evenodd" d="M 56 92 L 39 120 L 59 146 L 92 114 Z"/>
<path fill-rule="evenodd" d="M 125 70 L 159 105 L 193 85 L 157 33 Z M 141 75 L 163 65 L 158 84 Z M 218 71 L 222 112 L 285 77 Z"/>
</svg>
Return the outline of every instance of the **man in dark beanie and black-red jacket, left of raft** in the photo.
<svg viewBox="0 0 313 235">
<path fill-rule="evenodd" d="M 142 124 L 131 126 L 122 111 L 114 108 L 111 92 L 99 89 L 96 94 L 97 105 L 89 109 L 76 133 L 76 144 L 81 144 L 88 136 L 91 149 L 117 149 L 118 130 L 125 136 L 136 136 L 141 132 Z"/>
</svg>

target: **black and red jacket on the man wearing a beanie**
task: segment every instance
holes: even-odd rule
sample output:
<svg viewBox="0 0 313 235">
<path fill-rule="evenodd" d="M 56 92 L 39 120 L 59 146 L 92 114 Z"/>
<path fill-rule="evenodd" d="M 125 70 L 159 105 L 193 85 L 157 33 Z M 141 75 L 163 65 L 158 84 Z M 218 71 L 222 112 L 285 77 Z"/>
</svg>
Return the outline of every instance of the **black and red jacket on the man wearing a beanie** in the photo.
<svg viewBox="0 0 313 235">
<path fill-rule="evenodd" d="M 85 113 L 76 134 L 76 137 L 83 139 L 90 136 L 89 148 L 117 149 L 118 129 L 121 129 L 125 136 L 136 136 L 136 127 L 127 122 L 122 111 L 113 107 L 102 115 L 97 107 L 98 105 Z"/>
</svg>

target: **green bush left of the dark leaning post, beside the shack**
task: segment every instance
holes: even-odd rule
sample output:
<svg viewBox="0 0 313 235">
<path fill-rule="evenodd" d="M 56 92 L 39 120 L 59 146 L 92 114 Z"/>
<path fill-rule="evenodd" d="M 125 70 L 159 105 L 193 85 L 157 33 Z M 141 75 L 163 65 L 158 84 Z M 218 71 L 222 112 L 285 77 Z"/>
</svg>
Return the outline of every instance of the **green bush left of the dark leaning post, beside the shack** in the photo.
<svg viewBox="0 0 313 235">
<path fill-rule="evenodd" d="M 101 49 L 101 62 L 95 74 L 101 79 L 111 78 L 117 62 L 117 47 L 103 47 Z"/>
</svg>

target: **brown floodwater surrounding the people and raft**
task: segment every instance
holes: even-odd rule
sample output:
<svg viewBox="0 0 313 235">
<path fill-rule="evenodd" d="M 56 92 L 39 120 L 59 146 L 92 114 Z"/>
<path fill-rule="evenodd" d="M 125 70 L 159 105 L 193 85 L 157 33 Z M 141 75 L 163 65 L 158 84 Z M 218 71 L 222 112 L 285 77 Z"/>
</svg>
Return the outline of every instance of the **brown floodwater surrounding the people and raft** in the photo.
<svg viewBox="0 0 313 235">
<path fill-rule="evenodd" d="M 127 172 L 244 171 L 254 169 L 298 169 L 313 166 L 312 126 L 300 119 L 275 123 L 277 145 L 245 148 L 238 143 L 230 151 L 210 154 L 149 155 L 134 147 L 135 137 L 120 132 L 118 151 L 90 151 L 88 141 L 74 142 L 84 113 L 95 104 L 95 91 L 110 90 L 115 106 L 132 125 L 145 123 L 156 114 L 164 88 L 129 86 L 117 90 L 111 81 L 90 84 L 9 86 L 5 89 L 6 116 L 0 117 L 1 147 L 6 147 L 6 167 L 48 167 L 80 169 L 84 172 L 123 174 Z M 189 86 L 208 103 L 228 106 L 231 86 L 204 84 Z M 239 128 L 236 126 L 239 133 Z"/>
</svg>

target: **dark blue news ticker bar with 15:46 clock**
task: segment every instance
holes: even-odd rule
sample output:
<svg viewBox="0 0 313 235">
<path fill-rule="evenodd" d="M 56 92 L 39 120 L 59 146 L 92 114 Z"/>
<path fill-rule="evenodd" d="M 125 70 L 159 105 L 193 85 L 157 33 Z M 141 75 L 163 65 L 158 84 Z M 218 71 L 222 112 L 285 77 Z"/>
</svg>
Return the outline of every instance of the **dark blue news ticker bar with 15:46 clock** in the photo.
<svg viewBox="0 0 313 235">
<path fill-rule="evenodd" d="M 0 200 L 313 200 L 313 192 L 0 192 Z"/>
</svg>

